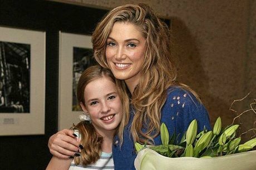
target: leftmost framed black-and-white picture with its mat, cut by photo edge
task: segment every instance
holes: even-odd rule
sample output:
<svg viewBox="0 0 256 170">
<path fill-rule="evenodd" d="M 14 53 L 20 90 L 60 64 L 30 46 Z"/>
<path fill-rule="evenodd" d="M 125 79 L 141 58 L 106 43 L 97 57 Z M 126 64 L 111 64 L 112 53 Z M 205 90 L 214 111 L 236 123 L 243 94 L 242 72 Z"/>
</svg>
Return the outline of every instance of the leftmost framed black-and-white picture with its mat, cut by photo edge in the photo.
<svg viewBox="0 0 256 170">
<path fill-rule="evenodd" d="M 0 32 L 0 136 L 43 135 L 46 32 L 9 27 Z"/>
</svg>

